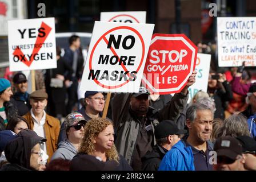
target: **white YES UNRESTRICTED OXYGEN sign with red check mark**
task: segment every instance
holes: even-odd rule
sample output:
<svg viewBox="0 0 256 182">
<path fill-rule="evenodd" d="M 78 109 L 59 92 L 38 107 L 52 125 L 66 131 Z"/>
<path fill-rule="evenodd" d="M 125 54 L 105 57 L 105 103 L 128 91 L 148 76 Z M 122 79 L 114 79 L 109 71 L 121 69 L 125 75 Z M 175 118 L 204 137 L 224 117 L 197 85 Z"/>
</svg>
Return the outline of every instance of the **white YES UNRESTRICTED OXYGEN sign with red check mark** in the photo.
<svg viewBox="0 0 256 182">
<path fill-rule="evenodd" d="M 10 71 L 57 68 L 55 20 L 8 21 Z"/>
</svg>

